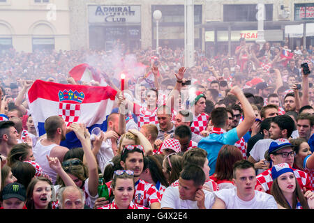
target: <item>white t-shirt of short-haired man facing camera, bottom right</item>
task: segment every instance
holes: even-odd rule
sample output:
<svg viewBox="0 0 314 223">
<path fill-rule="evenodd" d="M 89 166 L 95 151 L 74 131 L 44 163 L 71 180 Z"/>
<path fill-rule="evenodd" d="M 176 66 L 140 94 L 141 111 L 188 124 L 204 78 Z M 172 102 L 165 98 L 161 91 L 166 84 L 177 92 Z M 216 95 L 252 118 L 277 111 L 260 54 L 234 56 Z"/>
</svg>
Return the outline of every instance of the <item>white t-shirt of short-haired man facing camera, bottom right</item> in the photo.
<svg viewBox="0 0 314 223">
<path fill-rule="evenodd" d="M 241 200 L 237 195 L 237 187 L 214 192 L 214 195 L 225 202 L 226 209 L 278 209 L 274 197 L 265 192 L 254 190 L 251 201 Z"/>
</svg>

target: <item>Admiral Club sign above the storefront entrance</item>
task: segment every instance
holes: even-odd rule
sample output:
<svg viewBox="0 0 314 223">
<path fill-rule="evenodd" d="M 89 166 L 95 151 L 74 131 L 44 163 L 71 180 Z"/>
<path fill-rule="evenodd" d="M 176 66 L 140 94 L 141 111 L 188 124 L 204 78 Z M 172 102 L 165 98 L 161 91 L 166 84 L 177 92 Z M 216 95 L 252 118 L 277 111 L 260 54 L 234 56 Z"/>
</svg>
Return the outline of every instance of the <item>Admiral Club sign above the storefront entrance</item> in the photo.
<svg viewBox="0 0 314 223">
<path fill-rule="evenodd" d="M 90 23 L 140 23 L 141 6 L 88 6 Z"/>
</svg>

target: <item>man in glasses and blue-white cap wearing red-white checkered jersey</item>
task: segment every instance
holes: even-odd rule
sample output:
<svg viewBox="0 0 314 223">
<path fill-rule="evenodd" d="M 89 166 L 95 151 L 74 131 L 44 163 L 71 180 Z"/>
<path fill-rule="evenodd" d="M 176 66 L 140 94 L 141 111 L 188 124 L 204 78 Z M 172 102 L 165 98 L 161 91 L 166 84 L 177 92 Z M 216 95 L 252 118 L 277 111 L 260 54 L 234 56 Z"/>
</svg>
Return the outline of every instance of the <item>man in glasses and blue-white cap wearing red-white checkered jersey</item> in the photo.
<svg viewBox="0 0 314 223">
<path fill-rule="evenodd" d="M 271 164 L 277 165 L 281 163 L 290 164 L 292 167 L 294 164 L 294 151 L 292 151 L 292 145 L 290 141 L 287 139 L 277 139 L 272 141 L 269 150 L 265 155 L 267 160 L 271 161 Z M 293 169 L 293 168 L 292 168 Z M 301 187 L 301 189 L 305 192 L 308 190 L 313 190 L 310 178 L 306 172 L 301 171 L 299 169 L 293 169 L 294 176 L 297 178 L 297 181 Z M 257 183 L 255 186 L 255 190 L 267 192 L 270 194 L 271 185 L 273 184 L 273 178 L 271 176 L 271 169 L 267 169 L 256 176 Z"/>
</svg>

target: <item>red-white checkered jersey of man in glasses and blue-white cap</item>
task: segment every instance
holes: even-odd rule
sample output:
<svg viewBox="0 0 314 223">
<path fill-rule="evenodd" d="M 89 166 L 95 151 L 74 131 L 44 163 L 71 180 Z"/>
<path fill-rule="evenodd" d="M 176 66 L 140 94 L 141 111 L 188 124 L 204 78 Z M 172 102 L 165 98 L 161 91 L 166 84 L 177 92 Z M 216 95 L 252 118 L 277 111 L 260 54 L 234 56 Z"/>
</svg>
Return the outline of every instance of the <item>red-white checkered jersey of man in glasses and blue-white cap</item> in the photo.
<svg viewBox="0 0 314 223">
<path fill-rule="evenodd" d="M 301 189 L 303 187 L 306 187 L 306 190 L 313 190 L 308 174 L 306 174 L 306 172 L 301 171 L 299 169 L 294 169 L 294 168 L 292 169 L 294 172 L 294 176 L 295 178 L 297 178 L 297 181 Z M 267 194 L 270 194 L 271 185 L 273 185 L 273 177 L 271 176 L 271 168 L 262 172 L 262 174 L 257 175 L 256 179 L 257 179 L 257 183 L 255 185 L 255 189 L 257 189 L 257 187 L 261 185 L 264 191 L 267 192 Z"/>
</svg>

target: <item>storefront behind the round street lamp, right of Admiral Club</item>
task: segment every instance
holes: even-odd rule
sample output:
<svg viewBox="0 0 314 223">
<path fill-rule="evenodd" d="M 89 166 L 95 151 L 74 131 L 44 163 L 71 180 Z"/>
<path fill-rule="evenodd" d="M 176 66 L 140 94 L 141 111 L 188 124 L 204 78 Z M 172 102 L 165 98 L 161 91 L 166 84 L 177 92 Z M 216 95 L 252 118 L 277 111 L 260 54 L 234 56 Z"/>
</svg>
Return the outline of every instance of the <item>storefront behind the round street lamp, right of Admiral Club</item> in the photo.
<svg viewBox="0 0 314 223">
<path fill-rule="evenodd" d="M 160 10 L 162 13 L 159 21 L 159 46 L 184 47 L 184 5 L 151 6 L 152 45 L 156 48 L 156 20 L 153 13 Z M 202 5 L 194 6 L 194 24 L 202 24 Z M 202 49 L 202 29 L 194 29 L 195 49 Z"/>
</svg>

